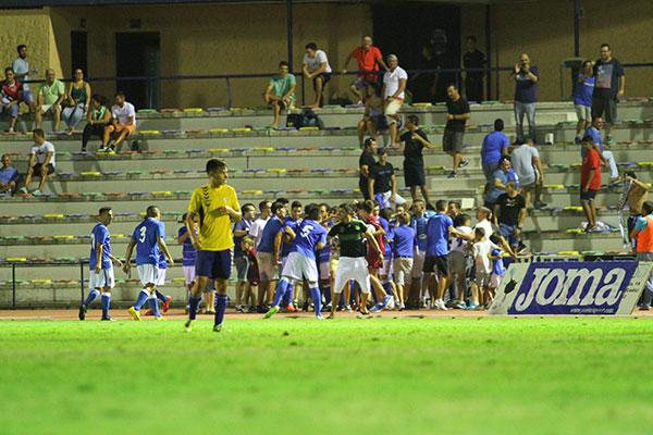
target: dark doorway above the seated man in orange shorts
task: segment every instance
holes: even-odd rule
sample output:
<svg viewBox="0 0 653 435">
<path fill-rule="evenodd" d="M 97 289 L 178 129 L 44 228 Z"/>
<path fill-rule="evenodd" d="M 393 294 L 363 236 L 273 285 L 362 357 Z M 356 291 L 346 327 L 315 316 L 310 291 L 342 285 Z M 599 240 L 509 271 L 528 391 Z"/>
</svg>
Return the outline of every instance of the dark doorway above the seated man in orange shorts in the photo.
<svg viewBox="0 0 653 435">
<path fill-rule="evenodd" d="M 160 37 L 153 32 L 115 34 L 115 71 L 119 77 L 153 77 L 160 71 Z M 125 92 L 136 109 L 159 107 L 158 80 L 119 80 L 116 90 Z"/>
</svg>

